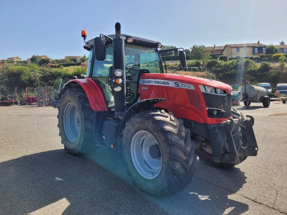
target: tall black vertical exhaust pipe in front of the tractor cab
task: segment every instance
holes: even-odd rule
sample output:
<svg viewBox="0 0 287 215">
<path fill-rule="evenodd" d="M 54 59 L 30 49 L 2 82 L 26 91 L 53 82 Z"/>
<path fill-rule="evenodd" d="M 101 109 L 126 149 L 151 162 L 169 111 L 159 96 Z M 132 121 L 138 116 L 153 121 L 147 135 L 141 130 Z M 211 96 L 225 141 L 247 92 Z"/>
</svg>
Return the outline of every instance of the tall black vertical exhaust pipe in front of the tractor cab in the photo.
<svg viewBox="0 0 287 215">
<path fill-rule="evenodd" d="M 121 24 L 115 24 L 116 38 L 113 39 L 113 78 L 121 78 L 123 82 L 119 85 L 121 91 L 114 91 L 115 99 L 115 118 L 121 118 L 125 115 L 126 107 L 126 83 L 125 83 L 125 40 L 121 38 Z M 121 77 L 115 76 L 115 70 L 121 70 L 123 75 Z M 114 87 L 116 84 L 114 84 Z"/>
</svg>

